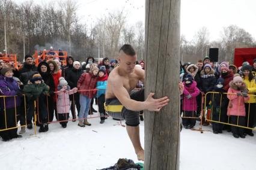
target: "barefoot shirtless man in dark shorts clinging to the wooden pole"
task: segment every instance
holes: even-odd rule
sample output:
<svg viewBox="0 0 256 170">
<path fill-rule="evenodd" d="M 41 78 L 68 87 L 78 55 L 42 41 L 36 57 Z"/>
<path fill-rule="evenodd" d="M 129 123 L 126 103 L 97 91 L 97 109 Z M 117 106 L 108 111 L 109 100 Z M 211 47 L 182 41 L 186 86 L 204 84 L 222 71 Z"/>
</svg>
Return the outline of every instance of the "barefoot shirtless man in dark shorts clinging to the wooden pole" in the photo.
<svg viewBox="0 0 256 170">
<path fill-rule="evenodd" d="M 126 120 L 126 130 L 132 141 L 138 160 L 144 160 L 144 149 L 139 139 L 139 111 L 160 111 L 168 104 L 168 97 L 154 99 L 150 93 L 144 100 L 144 89 L 132 92 L 138 81 L 145 83 L 145 72 L 136 65 L 136 52 L 131 45 L 124 44 L 120 48 L 117 68 L 109 74 L 106 89 L 106 111 L 115 119 Z M 180 90 L 183 85 L 180 84 Z"/>
</svg>

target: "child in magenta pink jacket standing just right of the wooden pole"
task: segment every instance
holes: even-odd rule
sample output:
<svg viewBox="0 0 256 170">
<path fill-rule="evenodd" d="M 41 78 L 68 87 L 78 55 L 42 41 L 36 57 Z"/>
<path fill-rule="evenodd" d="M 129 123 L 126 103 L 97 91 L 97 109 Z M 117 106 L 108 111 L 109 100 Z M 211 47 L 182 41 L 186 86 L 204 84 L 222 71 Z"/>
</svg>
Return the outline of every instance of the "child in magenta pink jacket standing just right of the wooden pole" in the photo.
<svg viewBox="0 0 256 170">
<path fill-rule="evenodd" d="M 196 117 L 197 111 L 197 96 L 200 90 L 197 88 L 197 82 L 195 82 L 192 76 L 187 75 L 183 81 L 184 91 L 183 91 L 183 117 Z M 193 128 L 195 126 L 195 119 L 182 118 L 182 124 L 186 129 Z"/>
</svg>

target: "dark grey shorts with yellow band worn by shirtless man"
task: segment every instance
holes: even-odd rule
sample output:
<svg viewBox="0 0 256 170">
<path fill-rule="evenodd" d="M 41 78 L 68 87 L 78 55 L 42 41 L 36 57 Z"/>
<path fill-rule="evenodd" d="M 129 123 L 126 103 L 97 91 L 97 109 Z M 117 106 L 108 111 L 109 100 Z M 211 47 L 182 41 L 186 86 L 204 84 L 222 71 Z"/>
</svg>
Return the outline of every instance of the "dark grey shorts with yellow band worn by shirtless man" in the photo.
<svg viewBox="0 0 256 170">
<path fill-rule="evenodd" d="M 130 98 L 135 101 L 144 101 L 144 88 L 141 90 L 133 90 L 130 93 Z M 112 99 L 106 99 L 105 102 L 106 105 L 106 112 L 109 114 L 109 116 L 115 118 L 115 119 L 124 119 L 126 120 L 127 126 L 138 126 L 139 125 L 139 111 L 131 111 L 127 110 L 120 101 L 118 101 L 117 98 Z M 111 107 L 108 106 L 115 106 L 117 110 L 111 110 Z"/>
</svg>

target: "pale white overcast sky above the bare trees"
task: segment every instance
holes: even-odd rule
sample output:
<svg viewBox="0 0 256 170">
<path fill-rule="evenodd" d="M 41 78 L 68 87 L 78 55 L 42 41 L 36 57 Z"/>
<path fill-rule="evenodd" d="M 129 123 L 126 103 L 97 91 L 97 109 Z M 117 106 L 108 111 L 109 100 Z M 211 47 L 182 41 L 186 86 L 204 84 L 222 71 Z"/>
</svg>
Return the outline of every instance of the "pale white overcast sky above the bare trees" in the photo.
<svg viewBox="0 0 256 170">
<path fill-rule="evenodd" d="M 17 3 L 25 0 L 15 0 Z M 94 23 L 109 11 L 122 10 L 127 13 L 127 22 L 145 20 L 145 0 L 76 0 L 81 22 Z M 45 4 L 50 0 L 37 0 Z M 181 34 L 192 40 L 203 26 L 210 32 L 210 41 L 218 40 L 221 31 L 229 25 L 237 25 L 256 38 L 256 0 L 181 0 Z"/>
</svg>

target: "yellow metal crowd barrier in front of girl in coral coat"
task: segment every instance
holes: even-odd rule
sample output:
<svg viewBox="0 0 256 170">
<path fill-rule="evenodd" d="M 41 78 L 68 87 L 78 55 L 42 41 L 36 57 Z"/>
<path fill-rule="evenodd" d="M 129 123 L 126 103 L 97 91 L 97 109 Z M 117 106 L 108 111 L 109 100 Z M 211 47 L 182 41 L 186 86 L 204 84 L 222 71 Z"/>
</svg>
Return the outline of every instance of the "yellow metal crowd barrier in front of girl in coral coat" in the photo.
<svg viewBox="0 0 256 170">
<path fill-rule="evenodd" d="M 215 96 L 215 94 L 221 94 L 221 99 L 220 99 L 220 104 L 219 104 L 219 107 L 220 107 L 220 109 L 219 109 L 219 120 L 218 121 L 216 121 L 216 120 L 213 120 L 213 104 L 211 104 L 211 111 L 210 111 L 210 119 L 209 119 L 209 115 L 207 115 L 206 114 L 206 111 L 207 111 L 207 101 L 206 101 L 206 96 L 207 95 L 212 95 L 211 96 L 211 101 L 210 102 L 212 102 L 212 99 L 215 99 L 214 98 L 214 96 Z M 209 122 L 212 122 L 212 123 L 221 123 L 221 124 L 223 124 L 223 125 L 230 125 L 230 126 L 236 126 L 236 127 L 238 127 L 238 128 L 245 128 L 245 129 L 251 129 L 251 130 L 256 130 L 256 128 L 250 128 L 249 127 L 249 116 L 250 116 L 250 106 L 251 106 L 251 104 L 249 103 L 249 113 L 248 113 L 248 120 L 247 120 L 247 126 L 240 126 L 240 125 L 238 125 L 239 124 L 239 117 L 242 117 L 242 116 L 237 116 L 237 125 L 234 125 L 234 124 L 231 124 L 230 123 L 230 116 L 228 116 L 227 115 L 227 113 L 226 113 L 226 116 L 228 116 L 228 121 L 227 122 L 221 122 L 221 106 L 222 106 L 222 98 L 223 98 L 223 95 L 237 95 L 236 93 L 219 93 L 219 92 L 207 92 L 206 93 L 206 96 L 205 96 L 205 99 L 204 99 L 204 109 L 205 109 L 205 111 L 204 111 L 204 117 L 205 117 L 205 119 L 207 120 L 207 121 L 209 121 Z M 248 96 L 250 96 L 250 98 L 251 97 L 256 97 L 256 95 L 249 95 L 248 94 Z M 229 99 L 227 99 L 228 101 L 229 101 Z M 230 103 L 228 103 L 228 105 L 230 105 Z M 239 99 L 239 106 L 240 106 L 240 99 Z M 228 107 L 228 106 L 227 106 Z M 240 111 L 240 109 L 239 109 L 239 111 Z M 228 112 L 228 108 L 227 108 L 227 112 Z M 225 114 L 225 113 L 224 113 Z"/>
</svg>

